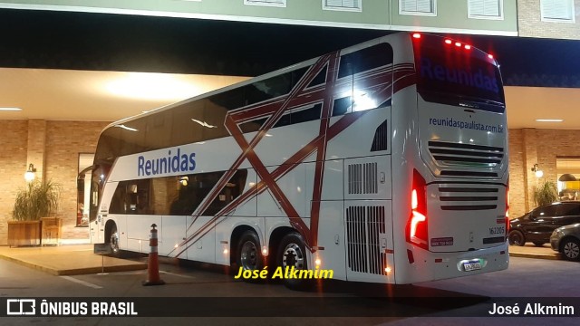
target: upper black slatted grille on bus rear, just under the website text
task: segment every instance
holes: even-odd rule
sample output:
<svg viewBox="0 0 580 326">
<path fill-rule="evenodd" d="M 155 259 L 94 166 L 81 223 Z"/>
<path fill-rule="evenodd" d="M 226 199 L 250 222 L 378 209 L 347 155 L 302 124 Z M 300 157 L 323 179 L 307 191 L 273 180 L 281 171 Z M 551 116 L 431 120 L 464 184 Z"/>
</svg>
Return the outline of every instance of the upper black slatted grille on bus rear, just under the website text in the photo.
<svg viewBox="0 0 580 326">
<path fill-rule="evenodd" d="M 494 168 L 504 158 L 503 148 L 444 141 L 430 141 L 429 151 L 440 166 Z"/>
</svg>

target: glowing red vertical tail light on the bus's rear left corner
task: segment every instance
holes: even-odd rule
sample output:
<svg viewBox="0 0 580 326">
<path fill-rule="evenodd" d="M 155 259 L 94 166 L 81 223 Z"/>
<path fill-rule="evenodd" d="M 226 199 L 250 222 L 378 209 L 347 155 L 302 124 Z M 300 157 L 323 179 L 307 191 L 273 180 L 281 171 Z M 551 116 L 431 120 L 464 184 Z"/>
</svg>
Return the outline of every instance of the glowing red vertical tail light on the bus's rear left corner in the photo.
<svg viewBox="0 0 580 326">
<path fill-rule="evenodd" d="M 408 243 L 429 249 L 427 222 L 427 183 L 420 173 L 413 169 L 411 216 L 405 230 Z"/>
</svg>

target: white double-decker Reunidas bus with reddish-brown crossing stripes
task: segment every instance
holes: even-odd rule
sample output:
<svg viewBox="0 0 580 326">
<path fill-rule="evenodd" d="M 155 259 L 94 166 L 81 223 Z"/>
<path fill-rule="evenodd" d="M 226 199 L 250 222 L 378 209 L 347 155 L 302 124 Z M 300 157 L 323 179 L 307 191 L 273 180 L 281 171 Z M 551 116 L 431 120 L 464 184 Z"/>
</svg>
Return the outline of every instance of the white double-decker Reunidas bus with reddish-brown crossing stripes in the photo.
<svg viewBox="0 0 580 326">
<path fill-rule="evenodd" d="M 391 34 L 112 123 L 92 242 L 148 253 L 155 224 L 160 255 L 243 270 L 372 283 L 503 270 L 507 157 L 498 62 Z"/>
</svg>

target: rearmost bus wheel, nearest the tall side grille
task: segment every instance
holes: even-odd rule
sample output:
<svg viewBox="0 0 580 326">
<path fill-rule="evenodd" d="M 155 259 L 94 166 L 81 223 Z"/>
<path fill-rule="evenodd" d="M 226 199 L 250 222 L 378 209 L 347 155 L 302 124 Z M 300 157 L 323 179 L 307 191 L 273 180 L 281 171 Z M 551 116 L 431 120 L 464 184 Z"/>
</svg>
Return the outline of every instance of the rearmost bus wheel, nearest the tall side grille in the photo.
<svg viewBox="0 0 580 326">
<path fill-rule="evenodd" d="M 297 232 L 285 235 L 280 243 L 278 250 L 278 266 L 282 268 L 285 274 L 286 270 L 290 276 L 293 275 L 294 270 L 307 270 L 308 262 L 306 257 L 306 250 L 302 235 Z M 285 286 L 291 289 L 304 289 L 310 283 L 307 279 L 285 277 Z"/>
</svg>

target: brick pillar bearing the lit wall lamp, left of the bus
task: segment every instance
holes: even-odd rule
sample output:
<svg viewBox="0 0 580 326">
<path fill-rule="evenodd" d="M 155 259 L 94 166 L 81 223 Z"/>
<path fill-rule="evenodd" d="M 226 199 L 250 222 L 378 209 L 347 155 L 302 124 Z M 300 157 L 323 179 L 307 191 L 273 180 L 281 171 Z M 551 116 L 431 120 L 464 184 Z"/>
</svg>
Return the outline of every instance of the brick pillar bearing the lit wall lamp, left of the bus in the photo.
<svg viewBox="0 0 580 326">
<path fill-rule="evenodd" d="M 36 168 L 36 179 L 43 181 L 44 158 L 46 153 L 46 120 L 28 120 L 28 146 L 26 151 L 26 169 L 32 163 Z M 23 177 L 24 177 L 24 172 Z"/>
</svg>

